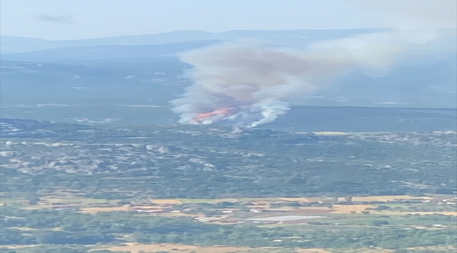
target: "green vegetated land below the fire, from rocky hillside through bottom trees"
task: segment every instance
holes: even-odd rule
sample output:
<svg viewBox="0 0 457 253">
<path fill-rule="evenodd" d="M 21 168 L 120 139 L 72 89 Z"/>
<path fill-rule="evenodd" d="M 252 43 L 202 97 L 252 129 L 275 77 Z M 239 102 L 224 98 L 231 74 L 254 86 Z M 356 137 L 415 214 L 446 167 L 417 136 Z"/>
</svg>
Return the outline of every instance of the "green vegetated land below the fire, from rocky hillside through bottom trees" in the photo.
<svg viewBox="0 0 457 253">
<path fill-rule="evenodd" d="M 224 126 L 115 129 L 22 119 L 2 119 L 0 126 L 0 243 L 39 245 L 5 249 L 8 253 L 79 253 L 126 242 L 399 251 L 453 245 L 457 237 L 456 216 L 433 214 L 455 212 L 453 195 L 441 202 L 420 199 L 456 191 L 456 133 L 451 131 L 326 136 Z M 367 195 L 417 199 L 356 201 Z M 169 208 L 151 202 L 166 198 L 182 204 L 168 215 L 129 209 Z M 316 214 L 325 217 L 300 225 L 222 224 L 186 216 L 242 221 L 261 215 L 250 212 L 255 200 L 280 209 L 274 215 L 369 206 Z M 51 209 L 60 206 L 69 207 Z M 122 206 L 127 207 L 117 212 L 84 211 Z"/>
</svg>

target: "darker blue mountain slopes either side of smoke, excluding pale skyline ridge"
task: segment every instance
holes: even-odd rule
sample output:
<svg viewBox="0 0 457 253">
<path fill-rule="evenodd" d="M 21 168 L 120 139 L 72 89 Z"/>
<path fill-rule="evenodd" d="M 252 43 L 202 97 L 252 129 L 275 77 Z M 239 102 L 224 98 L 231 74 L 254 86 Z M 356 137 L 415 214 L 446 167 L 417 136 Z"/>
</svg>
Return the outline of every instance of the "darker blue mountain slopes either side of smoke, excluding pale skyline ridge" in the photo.
<svg viewBox="0 0 457 253">
<path fill-rule="evenodd" d="M 63 49 L 66 48 L 59 50 Z M 27 103 L 29 98 L 41 103 L 110 98 L 150 100 L 168 105 L 168 101 L 179 96 L 191 82 L 182 78 L 190 66 L 174 56 L 117 59 L 59 59 L 57 56 L 50 61 L 67 64 L 1 61 L 1 97 L 21 100 L 21 103 Z M 456 107 L 456 69 L 457 59 L 453 53 L 417 56 L 399 63 L 384 77 L 353 72 L 335 80 L 326 89 L 292 103 Z"/>
</svg>

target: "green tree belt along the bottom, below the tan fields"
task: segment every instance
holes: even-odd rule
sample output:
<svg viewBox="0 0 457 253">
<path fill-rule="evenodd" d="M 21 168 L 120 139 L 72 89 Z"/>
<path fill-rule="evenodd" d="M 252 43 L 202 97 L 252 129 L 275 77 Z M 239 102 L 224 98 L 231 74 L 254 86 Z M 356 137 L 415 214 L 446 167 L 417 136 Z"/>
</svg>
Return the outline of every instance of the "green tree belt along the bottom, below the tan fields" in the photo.
<svg viewBox="0 0 457 253">
<path fill-rule="evenodd" d="M 137 216 L 127 213 L 82 214 L 50 210 L 18 210 L 1 208 L 1 245 L 16 244 L 96 244 L 122 242 L 115 235 L 131 234 L 136 242 L 183 243 L 191 245 L 240 245 L 250 247 L 328 247 L 359 248 L 453 245 L 457 238 L 452 228 L 440 230 L 402 228 L 354 228 L 332 231 L 300 231 L 259 228 L 249 224 L 216 225 L 187 217 L 165 218 Z M 382 224 L 377 225 L 383 225 Z M 22 235 L 14 227 L 37 230 Z M 51 228 L 60 228 L 60 231 Z"/>
</svg>

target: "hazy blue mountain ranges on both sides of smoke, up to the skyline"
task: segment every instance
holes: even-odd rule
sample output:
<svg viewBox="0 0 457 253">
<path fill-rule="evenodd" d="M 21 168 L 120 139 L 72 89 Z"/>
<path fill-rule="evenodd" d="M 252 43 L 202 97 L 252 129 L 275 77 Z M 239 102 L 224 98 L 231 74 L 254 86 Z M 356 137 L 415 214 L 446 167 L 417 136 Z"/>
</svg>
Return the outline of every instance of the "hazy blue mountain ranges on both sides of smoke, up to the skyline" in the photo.
<svg viewBox="0 0 457 253">
<path fill-rule="evenodd" d="M 184 70 L 190 66 L 173 56 L 176 53 L 247 38 L 293 46 L 377 31 L 233 30 L 214 33 L 191 30 L 73 41 L 1 37 L 2 51 L 8 46 L 22 46 L 29 51 L 1 56 L 0 96 L 11 101 L 21 100 L 21 103 L 28 103 L 30 99 L 57 103 L 90 98 L 136 99 L 141 103 L 153 101 L 168 105 L 168 101 L 179 96 L 191 82 L 182 78 Z M 39 47 L 48 49 L 31 51 Z M 456 69 L 455 53 L 416 55 L 392 66 L 392 71 L 384 77 L 352 72 L 326 89 L 292 103 L 456 107 Z"/>
</svg>

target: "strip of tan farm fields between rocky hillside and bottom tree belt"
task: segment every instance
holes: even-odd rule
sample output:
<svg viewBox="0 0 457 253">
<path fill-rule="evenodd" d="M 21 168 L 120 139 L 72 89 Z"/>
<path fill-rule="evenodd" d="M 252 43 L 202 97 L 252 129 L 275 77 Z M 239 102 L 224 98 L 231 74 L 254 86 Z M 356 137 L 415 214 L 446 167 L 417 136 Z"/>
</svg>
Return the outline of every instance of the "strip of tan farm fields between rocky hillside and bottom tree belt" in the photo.
<svg viewBox="0 0 457 253">
<path fill-rule="evenodd" d="M 14 200 L 14 199 L 2 199 L 1 205 L 19 205 L 21 209 L 44 209 L 50 207 L 59 207 L 59 206 L 70 206 L 76 207 L 79 209 L 79 212 L 92 213 L 97 212 L 130 212 L 130 211 L 149 211 L 150 213 L 154 212 L 164 212 L 164 210 L 169 209 L 174 205 L 199 205 L 199 204 L 217 204 L 219 202 L 238 202 L 245 203 L 243 204 L 245 208 L 249 209 L 267 209 L 268 212 L 289 212 L 291 214 L 302 214 L 302 215 L 326 215 L 326 214 L 360 214 L 363 211 L 368 211 L 370 214 L 381 214 L 381 215 L 405 215 L 405 214 L 444 214 L 457 216 L 457 210 L 447 207 L 443 209 L 440 207 L 440 210 L 427 210 L 425 207 L 424 210 L 421 209 L 411 209 L 414 206 L 425 205 L 422 203 L 407 203 L 407 202 L 396 202 L 390 203 L 393 200 L 411 200 L 411 199 L 423 199 L 423 200 L 433 200 L 437 199 L 452 199 L 451 195 L 440 195 L 431 197 L 412 197 L 408 195 L 382 195 L 382 196 L 367 196 L 367 197 L 352 197 L 354 202 L 370 202 L 378 201 L 384 202 L 378 205 L 387 205 L 391 209 L 387 210 L 374 210 L 378 205 L 330 205 L 325 206 L 309 206 L 309 207 L 290 207 L 290 206 L 281 206 L 281 207 L 271 207 L 272 203 L 287 203 L 287 202 L 302 202 L 302 203 L 316 203 L 316 202 L 332 202 L 333 200 L 328 197 L 259 197 L 259 198 L 219 198 L 219 199 L 191 199 L 191 198 L 182 198 L 182 199 L 148 199 L 144 203 L 134 203 L 133 205 L 120 205 L 117 204 L 119 200 L 105 200 L 105 199 L 90 199 L 90 198 L 46 198 L 41 197 L 41 200 L 37 202 L 36 205 L 27 204 L 27 200 Z M 340 201 L 344 201 L 343 197 L 339 198 Z M 444 200 L 446 201 L 446 200 Z M 148 203 L 153 203 L 153 205 L 148 205 Z M 252 204 L 251 204 L 252 203 Z M 446 202 L 442 202 L 446 203 Z M 441 204 L 442 204 L 441 203 Z M 110 206 L 103 206 L 110 205 Z M 430 204 L 427 204 L 430 205 Z M 444 206 L 443 206 L 444 207 Z M 396 210 L 394 208 L 403 208 L 401 210 Z M 410 209 L 408 209 L 410 208 Z M 162 210 L 163 209 L 163 210 Z M 368 209 L 368 210 L 367 210 Z M 169 211 L 165 211 L 169 212 Z M 238 209 L 231 209 L 231 212 L 239 212 Z M 165 213 L 162 213 L 163 215 Z M 182 212 L 172 212 L 169 213 L 170 216 L 184 216 Z"/>
</svg>

